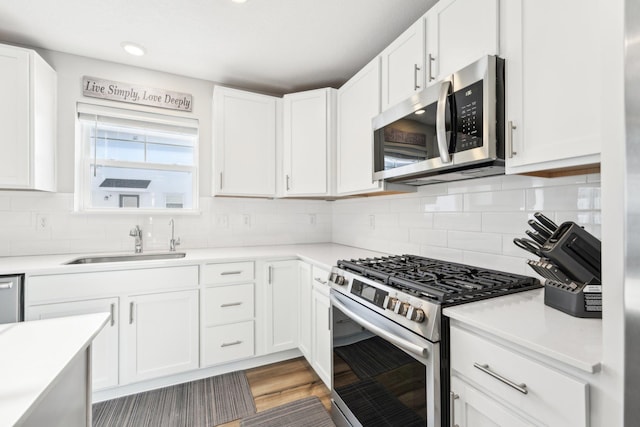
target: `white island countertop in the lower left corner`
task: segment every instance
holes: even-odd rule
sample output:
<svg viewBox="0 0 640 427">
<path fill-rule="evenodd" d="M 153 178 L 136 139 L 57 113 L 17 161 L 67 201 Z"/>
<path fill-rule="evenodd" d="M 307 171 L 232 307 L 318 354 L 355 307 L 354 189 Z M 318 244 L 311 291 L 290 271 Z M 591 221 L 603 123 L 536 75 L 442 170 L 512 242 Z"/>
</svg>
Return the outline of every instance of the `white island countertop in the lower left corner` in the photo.
<svg viewBox="0 0 640 427">
<path fill-rule="evenodd" d="M 0 426 L 24 420 L 108 318 L 98 313 L 0 325 Z"/>
</svg>

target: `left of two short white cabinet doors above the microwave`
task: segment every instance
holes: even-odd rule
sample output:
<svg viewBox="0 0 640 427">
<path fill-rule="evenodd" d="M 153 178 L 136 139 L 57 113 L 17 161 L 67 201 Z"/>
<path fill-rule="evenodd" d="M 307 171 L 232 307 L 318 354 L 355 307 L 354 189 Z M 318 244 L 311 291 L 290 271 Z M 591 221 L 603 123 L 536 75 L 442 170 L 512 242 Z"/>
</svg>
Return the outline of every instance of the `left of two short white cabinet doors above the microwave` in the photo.
<svg viewBox="0 0 640 427">
<path fill-rule="evenodd" d="M 420 18 L 380 55 L 382 109 L 404 101 L 424 89 L 425 19 Z"/>
</svg>

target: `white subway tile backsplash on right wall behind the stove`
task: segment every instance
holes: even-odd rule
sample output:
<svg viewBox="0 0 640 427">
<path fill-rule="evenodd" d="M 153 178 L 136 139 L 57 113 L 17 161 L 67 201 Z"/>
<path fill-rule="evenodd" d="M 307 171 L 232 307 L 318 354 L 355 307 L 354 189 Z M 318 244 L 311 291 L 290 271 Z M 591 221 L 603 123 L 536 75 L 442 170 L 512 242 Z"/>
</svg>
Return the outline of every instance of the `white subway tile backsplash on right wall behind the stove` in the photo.
<svg viewBox="0 0 640 427">
<path fill-rule="evenodd" d="M 575 221 L 600 237 L 600 176 L 502 176 L 419 187 L 416 193 L 341 200 L 333 207 L 333 241 L 533 274 L 527 220 L 541 211 Z"/>
</svg>

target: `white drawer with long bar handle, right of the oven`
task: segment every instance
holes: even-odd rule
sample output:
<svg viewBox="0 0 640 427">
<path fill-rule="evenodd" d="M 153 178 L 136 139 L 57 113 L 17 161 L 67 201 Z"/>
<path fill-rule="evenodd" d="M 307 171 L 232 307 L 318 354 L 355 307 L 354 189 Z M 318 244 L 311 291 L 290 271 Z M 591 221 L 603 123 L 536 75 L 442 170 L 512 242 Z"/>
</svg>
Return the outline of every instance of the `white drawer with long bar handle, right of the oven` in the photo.
<svg viewBox="0 0 640 427">
<path fill-rule="evenodd" d="M 476 365 L 516 386 L 524 384 L 527 393 Z M 587 425 L 587 383 L 455 326 L 451 327 L 451 370 L 545 425 Z"/>
</svg>

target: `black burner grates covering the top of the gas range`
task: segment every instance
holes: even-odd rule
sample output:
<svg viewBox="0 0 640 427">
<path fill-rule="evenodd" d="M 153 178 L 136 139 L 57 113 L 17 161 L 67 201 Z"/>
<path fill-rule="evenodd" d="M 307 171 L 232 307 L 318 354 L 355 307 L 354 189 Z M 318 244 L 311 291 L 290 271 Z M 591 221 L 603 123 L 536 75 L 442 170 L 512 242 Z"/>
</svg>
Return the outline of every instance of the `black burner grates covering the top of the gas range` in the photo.
<svg viewBox="0 0 640 427">
<path fill-rule="evenodd" d="M 540 287 L 533 277 L 416 255 L 338 261 L 338 267 L 446 305 Z"/>
</svg>

